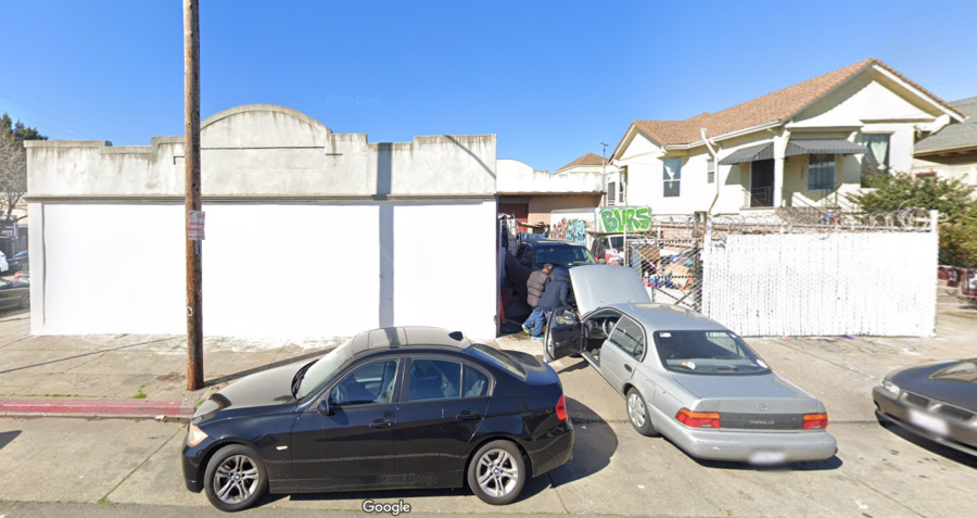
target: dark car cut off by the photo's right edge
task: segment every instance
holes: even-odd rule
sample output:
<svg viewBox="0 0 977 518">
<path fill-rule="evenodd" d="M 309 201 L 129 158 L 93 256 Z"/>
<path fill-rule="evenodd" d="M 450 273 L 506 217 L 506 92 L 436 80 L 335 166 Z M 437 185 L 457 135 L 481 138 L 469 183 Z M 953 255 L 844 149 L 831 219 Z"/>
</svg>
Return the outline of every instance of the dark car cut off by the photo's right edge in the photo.
<svg viewBox="0 0 977 518">
<path fill-rule="evenodd" d="M 977 358 L 899 369 L 872 391 L 876 413 L 944 446 L 977 455 Z"/>
</svg>

